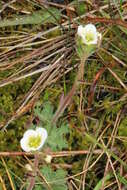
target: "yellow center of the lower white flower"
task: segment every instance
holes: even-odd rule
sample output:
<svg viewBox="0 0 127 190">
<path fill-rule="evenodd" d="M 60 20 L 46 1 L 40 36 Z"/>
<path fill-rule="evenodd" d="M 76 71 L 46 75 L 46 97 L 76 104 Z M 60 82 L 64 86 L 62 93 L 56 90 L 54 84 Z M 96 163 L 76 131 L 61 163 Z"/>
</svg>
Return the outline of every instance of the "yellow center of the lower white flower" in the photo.
<svg viewBox="0 0 127 190">
<path fill-rule="evenodd" d="M 28 145 L 30 148 L 37 148 L 41 143 L 41 137 L 38 135 L 38 136 L 32 136 L 29 138 L 29 142 L 28 142 Z"/>
</svg>

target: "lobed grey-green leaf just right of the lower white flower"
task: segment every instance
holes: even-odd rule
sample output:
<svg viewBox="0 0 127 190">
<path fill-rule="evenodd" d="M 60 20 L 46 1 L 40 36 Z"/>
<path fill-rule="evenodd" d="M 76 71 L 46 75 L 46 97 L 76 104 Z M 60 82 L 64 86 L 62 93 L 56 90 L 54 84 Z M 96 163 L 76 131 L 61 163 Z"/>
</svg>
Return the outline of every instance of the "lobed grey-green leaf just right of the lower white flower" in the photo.
<svg viewBox="0 0 127 190">
<path fill-rule="evenodd" d="M 68 147 L 65 135 L 69 132 L 68 124 L 63 123 L 57 127 L 52 124 L 53 107 L 49 102 L 46 102 L 41 109 L 40 104 L 35 107 L 35 115 L 39 117 L 42 124 L 39 127 L 44 127 L 47 130 L 48 138 L 46 144 L 53 150 L 62 150 Z"/>
</svg>

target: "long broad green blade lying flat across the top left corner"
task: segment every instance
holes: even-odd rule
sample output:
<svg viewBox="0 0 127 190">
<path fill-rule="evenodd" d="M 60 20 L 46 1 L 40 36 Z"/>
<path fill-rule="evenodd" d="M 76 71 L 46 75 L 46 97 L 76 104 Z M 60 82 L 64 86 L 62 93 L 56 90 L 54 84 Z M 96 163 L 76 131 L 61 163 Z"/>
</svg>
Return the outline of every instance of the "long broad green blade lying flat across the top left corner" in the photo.
<svg viewBox="0 0 127 190">
<path fill-rule="evenodd" d="M 0 27 L 26 25 L 26 24 L 47 24 L 58 23 L 60 12 L 56 8 L 36 11 L 31 15 L 15 16 L 12 19 L 3 19 L 0 21 Z"/>
</svg>

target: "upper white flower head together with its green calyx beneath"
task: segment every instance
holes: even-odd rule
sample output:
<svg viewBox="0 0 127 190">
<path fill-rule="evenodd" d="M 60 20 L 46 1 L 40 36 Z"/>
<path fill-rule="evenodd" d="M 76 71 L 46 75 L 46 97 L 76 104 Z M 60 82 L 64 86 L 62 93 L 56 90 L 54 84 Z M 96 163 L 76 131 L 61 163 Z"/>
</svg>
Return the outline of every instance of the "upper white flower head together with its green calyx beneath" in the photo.
<svg viewBox="0 0 127 190">
<path fill-rule="evenodd" d="M 76 43 L 79 56 L 82 57 L 84 54 L 90 56 L 94 53 L 97 47 L 100 46 L 101 39 L 101 33 L 97 31 L 93 24 L 78 26 Z"/>
</svg>

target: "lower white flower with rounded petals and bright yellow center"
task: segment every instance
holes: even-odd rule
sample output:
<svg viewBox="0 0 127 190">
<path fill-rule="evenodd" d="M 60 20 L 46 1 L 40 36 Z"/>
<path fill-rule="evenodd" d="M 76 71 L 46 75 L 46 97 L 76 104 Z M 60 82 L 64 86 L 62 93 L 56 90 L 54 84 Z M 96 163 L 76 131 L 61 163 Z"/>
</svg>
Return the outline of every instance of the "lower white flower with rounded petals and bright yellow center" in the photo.
<svg viewBox="0 0 127 190">
<path fill-rule="evenodd" d="M 23 138 L 20 140 L 21 148 L 25 152 L 40 150 L 47 139 L 47 131 L 44 128 L 36 128 L 36 130 L 27 130 Z"/>
</svg>

